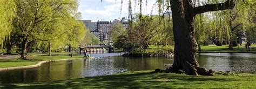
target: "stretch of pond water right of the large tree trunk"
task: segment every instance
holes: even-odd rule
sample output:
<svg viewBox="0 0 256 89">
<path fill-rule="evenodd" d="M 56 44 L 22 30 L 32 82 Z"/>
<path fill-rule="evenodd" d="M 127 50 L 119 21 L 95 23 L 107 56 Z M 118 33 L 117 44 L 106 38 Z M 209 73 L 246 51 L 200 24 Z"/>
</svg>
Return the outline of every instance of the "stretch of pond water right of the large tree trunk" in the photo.
<svg viewBox="0 0 256 89">
<path fill-rule="evenodd" d="M 255 73 L 255 56 L 250 53 L 201 53 L 200 66 L 215 71 Z"/>
</svg>

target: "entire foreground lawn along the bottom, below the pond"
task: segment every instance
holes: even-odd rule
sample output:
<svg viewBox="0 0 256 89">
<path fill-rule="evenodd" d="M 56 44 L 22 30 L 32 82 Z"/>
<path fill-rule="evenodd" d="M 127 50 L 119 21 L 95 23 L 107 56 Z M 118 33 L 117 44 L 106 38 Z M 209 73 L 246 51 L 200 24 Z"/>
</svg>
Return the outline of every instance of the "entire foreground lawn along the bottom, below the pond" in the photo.
<svg viewBox="0 0 256 89">
<path fill-rule="evenodd" d="M 255 84 L 255 74 L 187 76 L 138 71 L 43 83 L 0 84 L 0 88 L 255 88 Z"/>
</svg>

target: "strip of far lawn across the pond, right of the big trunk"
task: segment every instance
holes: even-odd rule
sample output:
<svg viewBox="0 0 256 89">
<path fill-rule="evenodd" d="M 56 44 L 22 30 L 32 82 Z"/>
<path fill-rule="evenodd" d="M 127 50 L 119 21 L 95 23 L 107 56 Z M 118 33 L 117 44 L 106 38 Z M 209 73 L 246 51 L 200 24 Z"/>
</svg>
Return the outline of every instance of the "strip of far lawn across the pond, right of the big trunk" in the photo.
<svg viewBox="0 0 256 89">
<path fill-rule="evenodd" d="M 243 47 L 243 48 L 242 48 Z M 239 45 L 239 49 L 237 46 L 233 47 L 233 50 L 228 49 L 228 45 L 216 46 L 216 45 L 207 45 L 201 46 L 201 52 L 256 52 L 256 44 L 252 44 L 251 51 L 244 48 L 244 45 Z"/>
</svg>

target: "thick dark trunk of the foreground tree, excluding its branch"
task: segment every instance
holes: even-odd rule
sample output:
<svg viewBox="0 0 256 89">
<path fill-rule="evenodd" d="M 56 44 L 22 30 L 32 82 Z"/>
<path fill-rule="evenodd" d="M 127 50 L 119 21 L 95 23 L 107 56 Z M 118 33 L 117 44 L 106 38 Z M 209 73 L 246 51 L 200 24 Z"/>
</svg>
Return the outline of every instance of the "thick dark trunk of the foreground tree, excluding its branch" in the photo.
<svg viewBox="0 0 256 89">
<path fill-rule="evenodd" d="M 184 71 L 188 75 L 198 75 L 196 60 L 197 43 L 194 38 L 194 16 L 192 2 L 170 1 L 173 19 L 174 63 L 171 72 Z"/>
</svg>

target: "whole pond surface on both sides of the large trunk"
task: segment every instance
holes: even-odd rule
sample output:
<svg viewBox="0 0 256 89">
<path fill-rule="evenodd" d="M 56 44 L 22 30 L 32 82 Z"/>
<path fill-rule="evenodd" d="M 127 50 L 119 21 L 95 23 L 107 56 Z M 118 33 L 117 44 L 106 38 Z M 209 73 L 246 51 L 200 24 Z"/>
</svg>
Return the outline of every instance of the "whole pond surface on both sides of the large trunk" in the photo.
<svg viewBox="0 0 256 89">
<path fill-rule="evenodd" d="M 56 81 L 113 73 L 166 69 L 173 58 L 120 57 L 120 53 L 91 54 L 93 59 L 52 61 L 40 67 L 22 70 L 0 71 L 0 83 L 31 83 Z M 200 66 L 215 71 L 256 73 L 256 54 L 253 53 L 200 53 Z"/>
</svg>

